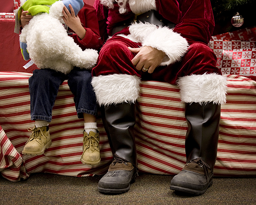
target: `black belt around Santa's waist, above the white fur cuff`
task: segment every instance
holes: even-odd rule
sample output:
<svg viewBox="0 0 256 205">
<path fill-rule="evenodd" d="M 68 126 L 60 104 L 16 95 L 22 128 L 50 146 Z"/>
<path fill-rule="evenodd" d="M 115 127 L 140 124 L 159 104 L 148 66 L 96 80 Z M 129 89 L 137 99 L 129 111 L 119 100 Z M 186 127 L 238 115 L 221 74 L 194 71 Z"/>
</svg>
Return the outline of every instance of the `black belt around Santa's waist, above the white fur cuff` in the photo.
<svg viewBox="0 0 256 205">
<path fill-rule="evenodd" d="M 112 29 L 112 35 L 114 35 L 115 33 L 119 32 L 119 31 L 122 31 L 122 29 L 131 25 L 132 22 L 142 22 L 142 23 L 148 22 L 148 23 L 158 25 L 158 26 L 167 26 L 169 28 L 175 27 L 174 23 L 164 19 L 157 11 L 150 10 L 148 12 L 145 12 L 143 14 L 135 16 L 135 18 L 133 18 L 133 19 L 128 19 L 128 20 L 120 22 L 118 25 L 116 25 Z"/>
</svg>

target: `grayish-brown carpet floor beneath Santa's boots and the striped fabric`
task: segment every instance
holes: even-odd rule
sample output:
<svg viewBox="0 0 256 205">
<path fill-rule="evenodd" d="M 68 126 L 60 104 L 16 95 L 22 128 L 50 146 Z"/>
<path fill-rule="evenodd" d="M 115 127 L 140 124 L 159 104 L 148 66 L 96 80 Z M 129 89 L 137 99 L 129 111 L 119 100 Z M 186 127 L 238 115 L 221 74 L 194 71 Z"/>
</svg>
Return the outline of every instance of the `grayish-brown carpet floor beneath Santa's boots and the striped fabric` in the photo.
<svg viewBox="0 0 256 205">
<path fill-rule="evenodd" d="M 0 177 L 0 205 L 256 205 L 256 178 L 214 178 L 201 196 L 169 189 L 172 176 L 140 174 L 129 192 L 105 195 L 97 190 L 102 176 L 69 177 L 31 174 L 24 181 Z"/>
</svg>

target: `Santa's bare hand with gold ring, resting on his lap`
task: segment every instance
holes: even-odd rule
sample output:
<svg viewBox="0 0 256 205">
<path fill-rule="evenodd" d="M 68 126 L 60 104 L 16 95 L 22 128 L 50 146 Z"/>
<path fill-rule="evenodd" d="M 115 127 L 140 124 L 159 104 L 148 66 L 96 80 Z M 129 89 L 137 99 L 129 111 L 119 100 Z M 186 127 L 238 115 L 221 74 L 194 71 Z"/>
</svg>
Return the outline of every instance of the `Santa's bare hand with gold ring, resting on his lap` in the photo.
<svg viewBox="0 0 256 205">
<path fill-rule="evenodd" d="M 163 61 L 165 53 L 162 50 L 157 50 L 151 46 L 144 46 L 141 48 L 128 49 L 137 55 L 131 60 L 137 70 L 153 73 L 155 68 Z"/>
</svg>

